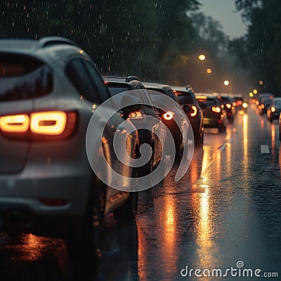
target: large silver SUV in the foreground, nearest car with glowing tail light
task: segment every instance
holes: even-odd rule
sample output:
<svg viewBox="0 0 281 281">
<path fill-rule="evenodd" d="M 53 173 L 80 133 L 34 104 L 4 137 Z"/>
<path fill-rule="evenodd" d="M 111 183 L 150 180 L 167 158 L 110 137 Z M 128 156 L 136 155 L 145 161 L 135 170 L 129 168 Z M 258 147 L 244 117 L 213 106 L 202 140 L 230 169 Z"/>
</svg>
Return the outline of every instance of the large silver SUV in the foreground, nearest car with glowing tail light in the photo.
<svg viewBox="0 0 281 281">
<path fill-rule="evenodd" d="M 112 178 L 112 169 L 133 176 L 131 162 L 120 164 L 112 148 L 124 118 L 110 107 L 98 111 L 110 97 L 103 79 L 68 39 L 1 39 L 0 84 L 1 229 L 63 237 L 70 252 L 93 253 L 103 216 L 117 211 L 119 218 L 133 218 L 137 203 L 136 194 L 122 191 L 130 181 L 114 188 L 101 181 L 100 175 Z M 93 115 L 100 132 L 87 155 Z M 112 117 L 103 127 L 107 115 Z M 139 142 L 131 136 L 126 133 L 126 152 L 133 159 Z"/>
</svg>

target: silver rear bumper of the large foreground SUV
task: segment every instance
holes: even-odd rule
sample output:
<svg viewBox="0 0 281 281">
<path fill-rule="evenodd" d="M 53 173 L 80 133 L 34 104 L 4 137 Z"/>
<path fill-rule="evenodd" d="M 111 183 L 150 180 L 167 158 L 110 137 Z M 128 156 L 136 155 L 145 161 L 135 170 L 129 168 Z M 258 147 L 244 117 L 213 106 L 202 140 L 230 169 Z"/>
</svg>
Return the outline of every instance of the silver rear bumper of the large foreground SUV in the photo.
<svg viewBox="0 0 281 281">
<path fill-rule="evenodd" d="M 45 169 L 33 166 L 20 174 L 1 175 L 0 214 L 15 210 L 35 216 L 82 216 L 93 184 L 93 172 L 89 169 L 85 174 L 77 166 L 68 164 L 64 170 L 55 165 L 48 169 L 46 165 Z M 48 206 L 42 199 L 64 203 Z"/>
</svg>

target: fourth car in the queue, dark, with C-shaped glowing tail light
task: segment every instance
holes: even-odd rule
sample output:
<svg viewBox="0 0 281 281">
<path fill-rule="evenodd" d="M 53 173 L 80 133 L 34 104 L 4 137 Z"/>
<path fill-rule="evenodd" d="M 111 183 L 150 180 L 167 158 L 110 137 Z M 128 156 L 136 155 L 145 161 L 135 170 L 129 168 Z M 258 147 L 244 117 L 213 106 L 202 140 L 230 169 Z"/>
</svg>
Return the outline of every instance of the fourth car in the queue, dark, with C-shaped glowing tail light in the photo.
<svg viewBox="0 0 281 281">
<path fill-rule="evenodd" d="M 197 147 L 202 147 L 204 143 L 204 114 L 202 111 L 202 107 L 206 108 L 206 105 L 202 104 L 202 107 L 200 107 L 197 99 L 195 98 L 195 92 L 193 91 L 191 86 L 172 86 L 171 88 L 178 98 L 181 107 L 183 107 L 183 110 L 185 109 L 185 105 L 189 105 L 191 107 L 191 110 L 188 109 L 188 112 L 185 113 L 188 116 L 188 119 L 192 126 L 195 145 Z"/>
</svg>

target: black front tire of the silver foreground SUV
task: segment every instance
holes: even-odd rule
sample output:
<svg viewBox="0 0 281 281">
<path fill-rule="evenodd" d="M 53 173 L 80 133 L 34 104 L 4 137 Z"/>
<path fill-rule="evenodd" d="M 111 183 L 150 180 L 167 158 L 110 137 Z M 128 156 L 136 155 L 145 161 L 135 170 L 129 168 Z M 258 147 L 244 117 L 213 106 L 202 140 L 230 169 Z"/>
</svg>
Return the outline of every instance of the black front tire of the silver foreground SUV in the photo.
<svg viewBox="0 0 281 281">
<path fill-rule="evenodd" d="M 117 223 L 134 221 L 138 214 L 138 192 L 130 192 L 128 200 L 113 211 Z"/>
</svg>

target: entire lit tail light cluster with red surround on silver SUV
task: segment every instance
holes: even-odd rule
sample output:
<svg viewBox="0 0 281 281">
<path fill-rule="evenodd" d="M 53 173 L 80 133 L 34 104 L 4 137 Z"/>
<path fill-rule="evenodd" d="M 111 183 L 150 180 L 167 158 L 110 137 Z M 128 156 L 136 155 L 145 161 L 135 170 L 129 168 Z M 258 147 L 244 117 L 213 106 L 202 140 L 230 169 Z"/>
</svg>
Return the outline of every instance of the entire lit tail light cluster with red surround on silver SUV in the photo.
<svg viewBox="0 0 281 281">
<path fill-rule="evenodd" d="M 0 131 L 15 138 L 66 138 L 73 133 L 76 119 L 76 112 L 63 111 L 6 115 L 0 117 Z"/>
</svg>

